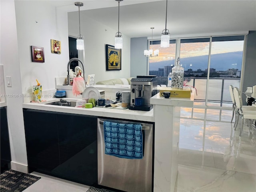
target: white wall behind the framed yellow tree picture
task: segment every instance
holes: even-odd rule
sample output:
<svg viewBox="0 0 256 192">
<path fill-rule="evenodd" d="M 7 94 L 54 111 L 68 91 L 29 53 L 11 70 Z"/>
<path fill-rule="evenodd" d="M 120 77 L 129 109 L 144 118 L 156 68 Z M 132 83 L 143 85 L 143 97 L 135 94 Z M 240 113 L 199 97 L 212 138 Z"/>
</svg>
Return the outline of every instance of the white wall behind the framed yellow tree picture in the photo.
<svg viewBox="0 0 256 192">
<path fill-rule="evenodd" d="M 117 23 L 118 24 L 118 23 Z M 116 25 L 117 25 L 116 24 Z M 122 33 L 123 48 L 121 53 L 121 70 L 106 71 L 105 44 L 114 46 L 116 30 L 104 24 L 82 16 L 80 12 L 80 28 L 85 44 L 85 75 L 95 74 L 95 82 L 112 78 L 130 77 L 130 38 Z M 68 32 L 70 36 L 79 34 L 78 12 L 68 13 Z M 120 32 L 122 32 L 120 30 Z"/>
</svg>

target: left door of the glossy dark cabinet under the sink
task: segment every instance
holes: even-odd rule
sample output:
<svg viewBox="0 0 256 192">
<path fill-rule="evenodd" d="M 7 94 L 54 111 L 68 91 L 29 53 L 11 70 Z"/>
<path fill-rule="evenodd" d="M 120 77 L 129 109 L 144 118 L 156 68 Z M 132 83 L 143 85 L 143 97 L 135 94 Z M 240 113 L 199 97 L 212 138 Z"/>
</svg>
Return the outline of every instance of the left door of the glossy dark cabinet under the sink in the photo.
<svg viewBox="0 0 256 192">
<path fill-rule="evenodd" d="M 57 114 L 23 109 L 28 171 L 50 173 L 60 164 Z"/>
</svg>

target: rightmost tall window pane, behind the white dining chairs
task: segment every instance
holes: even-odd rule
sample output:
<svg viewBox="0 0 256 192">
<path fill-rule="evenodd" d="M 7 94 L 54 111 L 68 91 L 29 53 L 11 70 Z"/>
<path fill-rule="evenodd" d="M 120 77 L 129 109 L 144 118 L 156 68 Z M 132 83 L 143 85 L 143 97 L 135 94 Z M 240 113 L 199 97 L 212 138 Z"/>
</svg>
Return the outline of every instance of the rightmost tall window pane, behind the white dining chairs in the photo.
<svg viewBox="0 0 256 192">
<path fill-rule="evenodd" d="M 208 106 L 230 102 L 228 86 L 240 87 L 244 36 L 212 37 Z"/>
</svg>

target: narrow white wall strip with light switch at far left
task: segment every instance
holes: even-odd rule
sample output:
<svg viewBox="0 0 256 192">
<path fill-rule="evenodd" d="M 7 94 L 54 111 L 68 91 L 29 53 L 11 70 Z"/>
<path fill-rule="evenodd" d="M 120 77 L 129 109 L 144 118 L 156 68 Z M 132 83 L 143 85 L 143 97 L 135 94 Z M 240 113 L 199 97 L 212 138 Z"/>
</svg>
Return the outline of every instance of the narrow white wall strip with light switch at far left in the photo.
<svg viewBox="0 0 256 192">
<path fill-rule="evenodd" d="M 11 76 L 12 87 L 6 87 L 6 94 L 20 95 L 21 77 L 19 50 L 16 30 L 14 1 L 0 1 L 1 7 L 1 64 L 4 65 L 4 75 Z M 5 80 L 6 82 L 6 80 Z M 22 97 L 7 97 L 7 117 L 10 137 L 12 163 L 21 165 L 14 170 L 26 172 L 27 153 L 22 114 Z M 24 166 L 22 166 L 24 165 Z"/>
</svg>

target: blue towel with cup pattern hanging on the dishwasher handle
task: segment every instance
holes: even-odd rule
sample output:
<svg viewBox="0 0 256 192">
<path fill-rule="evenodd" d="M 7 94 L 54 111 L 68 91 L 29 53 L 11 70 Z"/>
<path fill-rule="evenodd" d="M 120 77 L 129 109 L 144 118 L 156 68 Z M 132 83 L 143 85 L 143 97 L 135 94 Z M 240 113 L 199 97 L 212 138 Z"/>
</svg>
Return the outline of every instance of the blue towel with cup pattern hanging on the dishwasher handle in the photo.
<svg viewBox="0 0 256 192">
<path fill-rule="evenodd" d="M 141 124 L 104 121 L 105 154 L 128 159 L 142 159 L 143 135 Z"/>
</svg>

